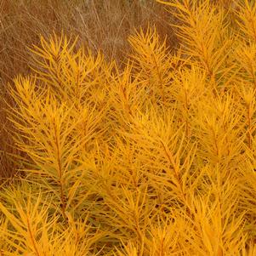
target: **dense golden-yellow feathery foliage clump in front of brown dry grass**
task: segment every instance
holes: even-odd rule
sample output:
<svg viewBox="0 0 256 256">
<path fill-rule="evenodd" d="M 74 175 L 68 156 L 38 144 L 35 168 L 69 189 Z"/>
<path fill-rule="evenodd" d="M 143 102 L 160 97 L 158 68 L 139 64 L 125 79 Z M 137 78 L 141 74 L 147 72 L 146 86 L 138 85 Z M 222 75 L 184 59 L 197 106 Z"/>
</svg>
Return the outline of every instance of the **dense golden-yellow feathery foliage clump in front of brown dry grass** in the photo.
<svg viewBox="0 0 256 256">
<path fill-rule="evenodd" d="M 9 94 L 23 179 L 0 255 L 255 255 L 256 3 L 158 1 L 123 69 L 54 35 Z"/>
</svg>

